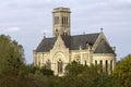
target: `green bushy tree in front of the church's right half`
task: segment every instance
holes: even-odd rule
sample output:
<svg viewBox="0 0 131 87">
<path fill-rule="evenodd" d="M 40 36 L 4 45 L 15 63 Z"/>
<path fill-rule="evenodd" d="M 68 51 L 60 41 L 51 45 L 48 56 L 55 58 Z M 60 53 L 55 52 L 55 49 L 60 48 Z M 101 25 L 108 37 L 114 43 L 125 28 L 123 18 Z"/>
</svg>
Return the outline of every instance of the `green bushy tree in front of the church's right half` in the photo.
<svg viewBox="0 0 131 87">
<path fill-rule="evenodd" d="M 66 67 L 63 85 L 66 87 L 108 87 L 111 76 L 107 73 L 99 73 L 99 65 L 82 65 L 72 62 Z"/>
</svg>

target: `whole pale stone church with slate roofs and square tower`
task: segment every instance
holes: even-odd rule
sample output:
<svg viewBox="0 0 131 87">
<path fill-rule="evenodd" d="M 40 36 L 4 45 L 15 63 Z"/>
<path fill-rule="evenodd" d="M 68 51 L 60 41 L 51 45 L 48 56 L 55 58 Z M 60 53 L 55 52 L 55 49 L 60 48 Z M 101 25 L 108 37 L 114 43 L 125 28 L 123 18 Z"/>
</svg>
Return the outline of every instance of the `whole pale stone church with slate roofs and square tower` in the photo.
<svg viewBox="0 0 131 87">
<path fill-rule="evenodd" d="M 116 64 L 115 47 L 110 47 L 103 29 L 100 33 L 71 36 L 69 8 L 56 8 L 52 11 L 52 35 L 44 37 L 33 51 L 34 64 L 46 66 L 62 76 L 68 63 L 76 61 L 83 65 L 99 64 L 111 73 Z"/>
</svg>

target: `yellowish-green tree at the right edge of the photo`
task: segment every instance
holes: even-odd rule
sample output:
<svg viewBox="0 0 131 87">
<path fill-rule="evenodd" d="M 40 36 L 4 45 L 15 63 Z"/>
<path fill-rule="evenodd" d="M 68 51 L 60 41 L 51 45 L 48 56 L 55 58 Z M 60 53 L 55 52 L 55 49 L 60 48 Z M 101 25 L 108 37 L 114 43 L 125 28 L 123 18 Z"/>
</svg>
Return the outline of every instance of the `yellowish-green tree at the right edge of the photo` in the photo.
<svg viewBox="0 0 131 87">
<path fill-rule="evenodd" d="M 114 83 L 119 83 L 123 87 L 131 86 L 131 55 L 117 63 L 114 71 Z"/>
</svg>

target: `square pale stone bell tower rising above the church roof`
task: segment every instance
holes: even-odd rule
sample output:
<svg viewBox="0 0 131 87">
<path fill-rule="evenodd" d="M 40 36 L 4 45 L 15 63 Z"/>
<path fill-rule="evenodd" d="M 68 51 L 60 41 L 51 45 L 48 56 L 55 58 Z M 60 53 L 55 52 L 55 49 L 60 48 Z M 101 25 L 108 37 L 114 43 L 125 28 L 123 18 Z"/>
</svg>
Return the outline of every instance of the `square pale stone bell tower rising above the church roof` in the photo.
<svg viewBox="0 0 131 87">
<path fill-rule="evenodd" d="M 70 36 L 70 9 L 56 8 L 52 11 L 52 35 Z"/>
</svg>

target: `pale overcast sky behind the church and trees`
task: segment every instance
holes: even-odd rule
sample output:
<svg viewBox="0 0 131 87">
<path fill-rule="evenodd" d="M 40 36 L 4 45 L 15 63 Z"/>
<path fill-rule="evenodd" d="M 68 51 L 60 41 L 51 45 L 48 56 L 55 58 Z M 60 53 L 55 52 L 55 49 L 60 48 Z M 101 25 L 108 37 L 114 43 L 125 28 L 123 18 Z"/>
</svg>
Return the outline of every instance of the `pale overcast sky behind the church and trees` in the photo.
<svg viewBox="0 0 131 87">
<path fill-rule="evenodd" d="M 117 59 L 131 53 L 131 0 L 0 0 L 0 34 L 23 45 L 27 63 L 46 33 L 52 36 L 52 9 L 71 9 L 71 34 L 99 33 L 100 27 Z"/>
</svg>

